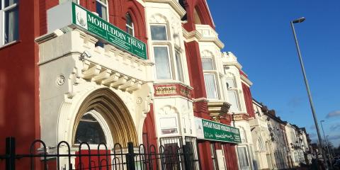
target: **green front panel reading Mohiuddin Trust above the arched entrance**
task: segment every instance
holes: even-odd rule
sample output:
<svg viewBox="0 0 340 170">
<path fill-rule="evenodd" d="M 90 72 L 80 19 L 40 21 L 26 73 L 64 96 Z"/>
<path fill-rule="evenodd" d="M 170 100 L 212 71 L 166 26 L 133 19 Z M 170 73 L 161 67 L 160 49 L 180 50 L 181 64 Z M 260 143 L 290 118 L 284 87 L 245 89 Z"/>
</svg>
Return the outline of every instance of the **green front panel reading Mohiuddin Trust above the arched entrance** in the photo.
<svg viewBox="0 0 340 170">
<path fill-rule="evenodd" d="M 72 3 L 72 23 L 110 42 L 121 50 L 147 60 L 147 47 L 144 42 L 74 3 Z"/>
</svg>

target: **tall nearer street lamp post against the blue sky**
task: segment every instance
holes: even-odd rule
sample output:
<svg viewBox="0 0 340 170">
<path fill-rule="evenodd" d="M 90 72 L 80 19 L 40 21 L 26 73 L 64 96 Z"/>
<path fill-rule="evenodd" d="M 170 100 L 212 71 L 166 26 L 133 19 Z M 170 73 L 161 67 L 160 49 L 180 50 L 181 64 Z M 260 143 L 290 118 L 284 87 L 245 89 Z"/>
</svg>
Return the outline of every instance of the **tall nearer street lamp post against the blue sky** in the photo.
<svg viewBox="0 0 340 170">
<path fill-rule="evenodd" d="M 313 104 L 313 101 L 312 101 L 312 94 L 310 94 L 310 85 L 308 84 L 308 81 L 307 81 L 307 77 L 306 77 L 306 73 L 305 73 L 305 67 L 304 67 L 303 62 L 302 62 L 300 47 L 299 47 L 299 43 L 297 42 L 295 28 L 294 28 L 294 23 L 302 23 L 303 21 L 305 21 L 305 17 L 298 18 L 294 21 L 290 21 L 290 26 L 292 26 L 293 35 L 294 35 L 294 39 L 295 39 L 295 45 L 296 45 L 296 49 L 297 49 L 297 55 L 299 56 L 303 78 L 305 79 L 305 85 L 306 85 L 306 89 L 307 89 L 308 98 L 310 99 L 310 108 L 312 109 L 315 128 L 317 128 L 317 138 L 319 140 L 319 149 L 321 149 L 321 152 L 322 152 L 322 158 L 324 159 L 324 166 L 327 166 L 327 164 L 326 164 L 327 158 L 326 158 L 326 155 L 324 154 L 324 150 L 322 149 L 322 140 L 321 140 L 319 125 L 317 124 L 317 115 L 315 114 L 314 104 Z"/>
</svg>

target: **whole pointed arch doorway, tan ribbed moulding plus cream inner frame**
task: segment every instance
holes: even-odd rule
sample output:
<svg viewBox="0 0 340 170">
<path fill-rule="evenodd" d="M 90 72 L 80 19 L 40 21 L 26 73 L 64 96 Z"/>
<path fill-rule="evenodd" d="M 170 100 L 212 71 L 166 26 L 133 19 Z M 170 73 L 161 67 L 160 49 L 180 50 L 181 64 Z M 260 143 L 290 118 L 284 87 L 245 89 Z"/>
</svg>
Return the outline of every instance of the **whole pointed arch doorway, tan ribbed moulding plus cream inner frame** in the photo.
<svg viewBox="0 0 340 170">
<path fill-rule="evenodd" d="M 91 122 L 94 132 L 99 133 L 95 136 L 90 135 L 90 137 L 96 137 L 96 142 L 106 142 L 108 146 L 120 143 L 122 147 L 127 147 L 128 142 L 138 145 L 137 130 L 130 112 L 121 98 L 111 89 L 97 89 L 91 92 L 81 103 L 74 121 L 73 145 L 79 143 L 77 141 L 80 139 L 79 134 L 81 134 L 79 128 L 86 130 L 86 127 L 84 127 L 86 121 L 87 125 Z M 90 139 L 84 139 L 84 135 L 82 140 L 90 141 Z M 96 142 L 93 144 L 96 144 Z"/>
</svg>

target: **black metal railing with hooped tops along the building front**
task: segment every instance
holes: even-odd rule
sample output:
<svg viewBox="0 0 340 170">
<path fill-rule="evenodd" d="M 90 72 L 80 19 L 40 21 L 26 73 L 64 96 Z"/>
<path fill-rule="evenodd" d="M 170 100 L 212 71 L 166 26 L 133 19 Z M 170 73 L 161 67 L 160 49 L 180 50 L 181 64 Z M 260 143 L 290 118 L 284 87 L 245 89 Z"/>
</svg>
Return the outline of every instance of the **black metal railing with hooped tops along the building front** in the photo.
<svg viewBox="0 0 340 170">
<path fill-rule="evenodd" d="M 187 140 L 187 139 L 186 139 Z M 196 138 L 190 139 L 196 144 Z M 172 143 L 174 144 L 174 143 Z M 193 145 L 139 145 L 128 142 L 128 147 L 115 144 L 108 149 L 106 144 L 90 145 L 81 142 L 77 148 L 59 142 L 55 148 L 47 148 L 42 140 L 30 145 L 28 154 L 16 154 L 16 140 L 6 138 L 6 153 L 0 154 L 0 169 L 17 170 L 173 170 L 199 169 Z M 2 163 L 2 164 L 1 164 Z M 1 167 L 4 165 L 4 167 Z M 18 168 L 18 165 L 21 168 Z"/>
</svg>

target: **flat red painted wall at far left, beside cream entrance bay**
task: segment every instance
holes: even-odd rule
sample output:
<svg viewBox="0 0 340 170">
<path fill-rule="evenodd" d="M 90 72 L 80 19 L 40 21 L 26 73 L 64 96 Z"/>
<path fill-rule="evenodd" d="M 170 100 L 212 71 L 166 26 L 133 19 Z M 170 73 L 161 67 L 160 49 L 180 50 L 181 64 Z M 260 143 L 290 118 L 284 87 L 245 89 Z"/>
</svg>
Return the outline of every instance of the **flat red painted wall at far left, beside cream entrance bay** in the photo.
<svg viewBox="0 0 340 170">
<path fill-rule="evenodd" d="M 16 152 L 28 152 L 30 143 L 40 137 L 38 96 L 38 45 L 40 34 L 38 1 L 20 1 L 18 41 L 0 47 L 0 153 L 5 138 L 16 137 Z M 27 161 L 26 161 L 27 163 Z M 0 169 L 4 169 L 0 161 Z M 18 169 L 23 164 L 17 164 Z"/>
</svg>

